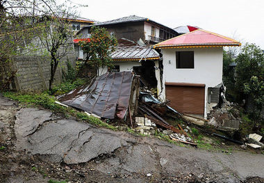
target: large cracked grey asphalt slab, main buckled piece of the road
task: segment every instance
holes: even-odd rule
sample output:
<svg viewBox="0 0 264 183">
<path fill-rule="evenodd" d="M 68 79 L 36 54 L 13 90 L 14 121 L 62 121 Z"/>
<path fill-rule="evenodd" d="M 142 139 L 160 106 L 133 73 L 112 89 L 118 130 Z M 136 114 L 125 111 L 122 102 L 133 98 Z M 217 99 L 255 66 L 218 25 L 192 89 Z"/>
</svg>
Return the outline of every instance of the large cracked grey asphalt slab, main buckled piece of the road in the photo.
<svg viewBox="0 0 264 183">
<path fill-rule="evenodd" d="M 117 136 L 74 120 L 47 124 L 28 138 L 28 142 L 32 154 L 47 154 L 50 159 L 67 164 L 87 162 L 127 145 Z"/>
</svg>

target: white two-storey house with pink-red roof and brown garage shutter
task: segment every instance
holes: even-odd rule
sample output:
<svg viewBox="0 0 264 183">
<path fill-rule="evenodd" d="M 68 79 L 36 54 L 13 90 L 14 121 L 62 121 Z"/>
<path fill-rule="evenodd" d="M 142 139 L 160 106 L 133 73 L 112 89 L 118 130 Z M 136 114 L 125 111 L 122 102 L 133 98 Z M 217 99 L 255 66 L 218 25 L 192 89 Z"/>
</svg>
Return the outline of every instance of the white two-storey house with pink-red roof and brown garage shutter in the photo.
<svg viewBox="0 0 264 183">
<path fill-rule="evenodd" d="M 160 100 L 170 100 L 170 106 L 180 113 L 206 118 L 219 102 L 223 47 L 240 45 L 203 29 L 154 45 L 163 54 L 163 79 L 158 82 Z"/>
</svg>

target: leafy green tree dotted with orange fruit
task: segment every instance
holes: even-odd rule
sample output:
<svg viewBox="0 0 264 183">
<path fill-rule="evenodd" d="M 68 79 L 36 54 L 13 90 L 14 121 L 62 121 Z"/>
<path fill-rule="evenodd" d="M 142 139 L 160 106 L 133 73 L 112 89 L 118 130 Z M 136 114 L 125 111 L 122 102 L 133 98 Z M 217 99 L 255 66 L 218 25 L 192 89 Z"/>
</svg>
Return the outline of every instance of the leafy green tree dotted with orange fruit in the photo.
<svg viewBox="0 0 264 183">
<path fill-rule="evenodd" d="M 79 42 L 83 53 L 86 54 L 85 63 L 97 67 L 113 67 L 113 60 L 110 54 L 115 51 L 117 39 L 110 35 L 105 28 L 92 26 L 90 39 Z M 98 73 L 99 74 L 99 73 Z"/>
</svg>

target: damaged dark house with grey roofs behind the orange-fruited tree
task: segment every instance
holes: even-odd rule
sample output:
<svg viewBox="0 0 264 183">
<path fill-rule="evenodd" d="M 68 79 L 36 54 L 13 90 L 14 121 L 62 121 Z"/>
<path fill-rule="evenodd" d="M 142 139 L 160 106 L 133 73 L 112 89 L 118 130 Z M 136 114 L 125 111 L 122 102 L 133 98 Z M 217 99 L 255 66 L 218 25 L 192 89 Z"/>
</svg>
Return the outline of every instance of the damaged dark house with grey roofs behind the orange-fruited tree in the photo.
<svg viewBox="0 0 264 183">
<path fill-rule="evenodd" d="M 179 33 L 151 19 L 136 15 L 83 26 L 79 31 L 81 39 L 74 40 L 75 50 L 79 51 L 79 60 L 85 59 L 85 54 L 83 54 L 83 50 L 77 43 L 90 37 L 89 32 L 92 26 L 106 28 L 109 34 L 115 35 L 118 40 L 117 49 L 111 54 L 115 65 L 113 71 L 133 70 L 141 76 L 141 81 L 145 86 L 156 88 L 155 72 L 158 67 L 155 66 L 158 65 L 160 54 L 151 49 L 151 45 L 174 38 Z M 99 75 L 106 72 L 107 68 L 99 68 Z"/>
</svg>

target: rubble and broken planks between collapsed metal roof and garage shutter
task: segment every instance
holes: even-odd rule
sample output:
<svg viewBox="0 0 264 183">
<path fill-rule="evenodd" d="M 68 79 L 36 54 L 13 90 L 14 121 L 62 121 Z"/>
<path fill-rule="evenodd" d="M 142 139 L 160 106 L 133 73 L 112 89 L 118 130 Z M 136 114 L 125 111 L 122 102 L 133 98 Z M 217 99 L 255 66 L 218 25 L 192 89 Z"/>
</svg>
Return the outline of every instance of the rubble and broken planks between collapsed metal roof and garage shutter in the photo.
<svg viewBox="0 0 264 183">
<path fill-rule="evenodd" d="M 178 128 L 170 125 L 164 118 L 179 119 L 181 113 L 172 109 L 167 104 L 157 100 L 151 93 L 140 92 L 138 104 L 139 113 L 144 117 L 135 117 L 136 130 L 141 134 L 153 135 L 156 132 L 169 136 L 172 141 L 195 145 L 187 134 L 189 129 L 184 129 L 178 124 Z"/>
</svg>

